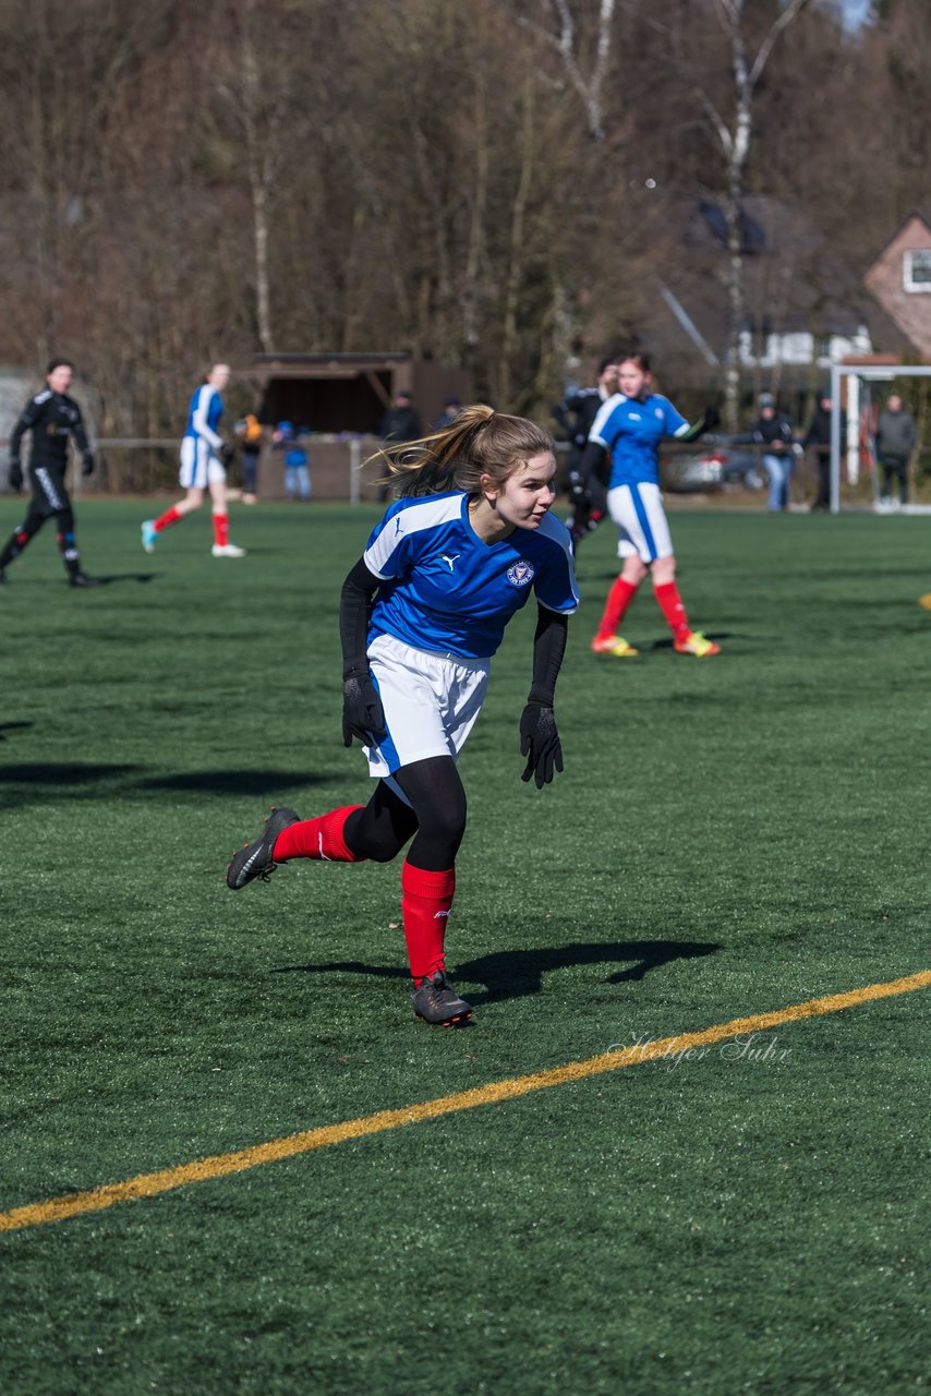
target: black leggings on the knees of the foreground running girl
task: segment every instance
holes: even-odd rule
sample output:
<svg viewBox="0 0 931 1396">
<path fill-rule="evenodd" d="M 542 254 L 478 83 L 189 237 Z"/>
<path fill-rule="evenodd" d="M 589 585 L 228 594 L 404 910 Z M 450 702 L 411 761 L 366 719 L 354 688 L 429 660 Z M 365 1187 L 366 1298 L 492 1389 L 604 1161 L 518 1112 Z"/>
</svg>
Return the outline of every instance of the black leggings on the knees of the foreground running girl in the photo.
<svg viewBox="0 0 931 1396">
<path fill-rule="evenodd" d="M 466 797 L 452 757 L 427 757 L 402 766 L 394 779 L 410 804 L 380 780 L 364 810 L 346 819 L 343 839 L 360 859 L 391 863 L 413 838 L 408 861 L 426 872 L 455 863 L 465 833 Z"/>
</svg>

